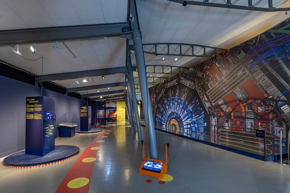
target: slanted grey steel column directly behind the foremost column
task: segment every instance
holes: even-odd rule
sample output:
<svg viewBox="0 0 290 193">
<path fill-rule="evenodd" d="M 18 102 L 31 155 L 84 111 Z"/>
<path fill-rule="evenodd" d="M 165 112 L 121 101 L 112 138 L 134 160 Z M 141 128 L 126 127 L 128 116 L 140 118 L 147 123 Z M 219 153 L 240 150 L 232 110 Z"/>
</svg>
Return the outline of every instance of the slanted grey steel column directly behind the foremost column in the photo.
<svg viewBox="0 0 290 193">
<path fill-rule="evenodd" d="M 129 71 L 129 81 L 130 81 L 130 89 L 132 87 L 131 93 L 132 93 L 132 101 L 133 101 L 133 107 L 134 107 L 134 113 L 135 113 L 135 123 L 136 123 L 138 141 L 142 141 L 142 132 L 141 132 L 141 126 L 140 126 L 139 113 L 138 113 L 138 104 L 137 104 L 137 98 L 136 98 L 134 77 L 133 77 L 132 71 Z"/>
</svg>

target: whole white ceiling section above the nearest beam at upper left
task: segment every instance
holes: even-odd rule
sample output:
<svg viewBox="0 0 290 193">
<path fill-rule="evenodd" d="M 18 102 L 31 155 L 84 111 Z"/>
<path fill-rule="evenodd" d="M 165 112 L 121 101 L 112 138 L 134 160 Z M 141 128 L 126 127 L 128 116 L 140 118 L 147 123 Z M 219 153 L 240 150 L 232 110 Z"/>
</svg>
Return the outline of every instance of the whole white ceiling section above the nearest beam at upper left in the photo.
<svg viewBox="0 0 290 193">
<path fill-rule="evenodd" d="M 0 26 L 22 29 L 126 22 L 127 7 L 127 0 L 0 0 Z"/>
</svg>

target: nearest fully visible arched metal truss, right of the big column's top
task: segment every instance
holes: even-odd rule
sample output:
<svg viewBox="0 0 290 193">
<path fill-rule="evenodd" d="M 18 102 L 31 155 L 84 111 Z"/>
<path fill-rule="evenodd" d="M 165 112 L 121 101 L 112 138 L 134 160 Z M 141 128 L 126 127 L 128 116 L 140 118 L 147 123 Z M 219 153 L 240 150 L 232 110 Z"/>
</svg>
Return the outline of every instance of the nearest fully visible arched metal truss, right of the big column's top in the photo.
<svg viewBox="0 0 290 193">
<path fill-rule="evenodd" d="M 183 43 L 148 43 L 142 44 L 144 53 L 160 56 L 191 56 L 191 57 L 212 57 L 206 54 L 206 49 L 226 51 L 222 48 L 212 46 L 183 44 Z M 172 46 L 174 45 L 174 47 Z M 129 45 L 129 50 L 134 50 L 133 45 Z M 163 52 L 159 52 L 163 50 Z M 203 50 L 203 51 L 201 51 Z M 199 54 L 200 53 L 200 54 Z"/>
</svg>

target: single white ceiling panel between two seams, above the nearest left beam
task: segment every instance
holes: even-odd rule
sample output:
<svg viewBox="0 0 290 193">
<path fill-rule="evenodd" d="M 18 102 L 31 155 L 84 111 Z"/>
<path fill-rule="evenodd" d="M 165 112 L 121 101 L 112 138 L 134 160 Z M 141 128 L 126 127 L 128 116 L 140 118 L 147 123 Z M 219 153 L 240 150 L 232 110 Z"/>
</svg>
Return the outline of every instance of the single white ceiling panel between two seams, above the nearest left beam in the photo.
<svg viewBox="0 0 290 193">
<path fill-rule="evenodd" d="M 71 0 L 81 24 L 105 23 L 100 0 Z"/>
</svg>

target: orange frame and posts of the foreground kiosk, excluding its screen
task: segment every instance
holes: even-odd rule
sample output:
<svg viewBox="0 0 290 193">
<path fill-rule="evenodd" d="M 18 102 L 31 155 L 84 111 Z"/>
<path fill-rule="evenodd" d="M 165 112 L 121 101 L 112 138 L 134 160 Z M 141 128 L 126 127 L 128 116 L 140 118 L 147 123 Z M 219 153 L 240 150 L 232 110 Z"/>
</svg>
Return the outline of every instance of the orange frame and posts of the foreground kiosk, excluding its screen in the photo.
<svg viewBox="0 0 290 193">
<path fill-rule="evenodd" d="M 139 174 L 148 175 L 148 176 L 152 176 L 152 177 L 160 178 L 160 179 L 164 178 L 165 174 L 167 173 L 167 154 L 168 154 L 169 143 L 166 143 L 166 160 L 165 160 L 165 162 L 163 160 L 145 158 L 145 151 L 144 151 L 145 142 L 143 140 L 142 140 L 142 146 L 143 146 L 143 162 L 142 162 L 142 165 L 139 169 Z M 144 170 L 143 167 L 144 167 L 144 164 L 147 160 L 163 163 L 160 173 Z"/>
</svg>

